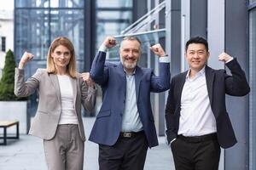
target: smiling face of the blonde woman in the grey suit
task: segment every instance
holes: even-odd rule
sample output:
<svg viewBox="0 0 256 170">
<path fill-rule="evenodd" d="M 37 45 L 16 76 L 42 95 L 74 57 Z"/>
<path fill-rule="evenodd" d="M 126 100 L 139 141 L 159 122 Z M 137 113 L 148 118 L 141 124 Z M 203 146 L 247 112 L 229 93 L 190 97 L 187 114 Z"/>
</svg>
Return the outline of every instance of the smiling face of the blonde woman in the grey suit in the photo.
<svg viewBox="0 0 256 170">
<path fill-rule="evenodd" d="M 51 57 L 53 58 L 58 73 L 66 73 L 67 65 L 71 58 L 70 50 L 63 45 L 59 45 L 51 53 Z"/>
</svg>

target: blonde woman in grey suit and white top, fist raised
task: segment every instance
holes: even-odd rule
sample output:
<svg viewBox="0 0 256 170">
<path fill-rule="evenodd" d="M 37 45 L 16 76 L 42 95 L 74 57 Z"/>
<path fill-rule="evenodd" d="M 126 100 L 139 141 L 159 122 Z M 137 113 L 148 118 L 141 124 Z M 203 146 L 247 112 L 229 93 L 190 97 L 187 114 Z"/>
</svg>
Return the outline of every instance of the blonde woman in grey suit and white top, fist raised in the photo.
<svg viewBox="0 0 256 170">
<path fill-rule="evenodd" d="M 82 170 L 84 125 L 81 104 L 92 111 L 96 89 L 89 73 L 76 71 L 73 43 L 57 37 L 51 43 L 47 68 L 24 81 L 24 67 L 33 55 L 24 53 L 15 70 L 15 94 L 29 96 L 38 90 L 38 111 L 29 133 L 44 139 L 49 170 Z"/>
</svg>

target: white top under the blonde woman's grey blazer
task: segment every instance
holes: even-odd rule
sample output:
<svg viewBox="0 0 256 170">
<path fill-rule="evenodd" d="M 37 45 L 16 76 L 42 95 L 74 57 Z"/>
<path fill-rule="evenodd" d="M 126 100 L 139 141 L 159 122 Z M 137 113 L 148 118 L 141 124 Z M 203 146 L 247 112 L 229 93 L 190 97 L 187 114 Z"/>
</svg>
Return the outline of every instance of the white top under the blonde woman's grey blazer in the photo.
<svg viewBox="0 0 256 170">
<path fill-rule="evenodd" d="M 59 124 L 79 124 L 73 104 L 73 87 L 70 77 L 57 75 L 61 91 L 61 118 Z"/>
</svg>

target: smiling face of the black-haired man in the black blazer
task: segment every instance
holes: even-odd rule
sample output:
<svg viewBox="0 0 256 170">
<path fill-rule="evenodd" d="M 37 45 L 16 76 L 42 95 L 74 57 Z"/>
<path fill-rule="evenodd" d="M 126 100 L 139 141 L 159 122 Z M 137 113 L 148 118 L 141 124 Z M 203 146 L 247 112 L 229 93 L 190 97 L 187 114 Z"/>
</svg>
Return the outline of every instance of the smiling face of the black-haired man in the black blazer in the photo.
<svg viewBox="0 0 256 170">
<path fill-rule="evenodd" d="M 207 64 L 209 58 L 209 52 L 203 43 L 190 43 L 185 53 L 185 59 L 187 60 L 191 71 L 201 71 L 201 69 Z"/>
</svg>

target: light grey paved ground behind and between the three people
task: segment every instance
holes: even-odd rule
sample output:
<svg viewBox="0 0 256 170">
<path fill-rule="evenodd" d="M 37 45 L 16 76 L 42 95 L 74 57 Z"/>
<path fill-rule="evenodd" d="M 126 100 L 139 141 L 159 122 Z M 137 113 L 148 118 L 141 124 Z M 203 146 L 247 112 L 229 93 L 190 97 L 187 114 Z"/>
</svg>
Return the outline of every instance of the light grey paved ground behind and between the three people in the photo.
<svg viewBox="0 0 256 170">
<path fill-rule="evenodd" d="M 84 118 L 87 137 L 95 118 Z M 45 125 L 47 126 L 47 125 Z M 165 137 L 159 138 L 160 145 L 148 150 L 145 170 L 174 170 L 172 153 L 166 145 Z M 84 169 L 98 169 L 98 147 L 90 141 L 85 142 Z M 46 170 L 42 139 L 30 135 L 20 135 L 19 140 L 11 140 L 0 146 L 0 170 Z"/>
</svg>

